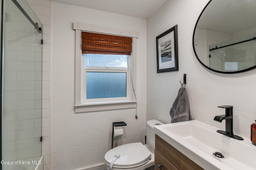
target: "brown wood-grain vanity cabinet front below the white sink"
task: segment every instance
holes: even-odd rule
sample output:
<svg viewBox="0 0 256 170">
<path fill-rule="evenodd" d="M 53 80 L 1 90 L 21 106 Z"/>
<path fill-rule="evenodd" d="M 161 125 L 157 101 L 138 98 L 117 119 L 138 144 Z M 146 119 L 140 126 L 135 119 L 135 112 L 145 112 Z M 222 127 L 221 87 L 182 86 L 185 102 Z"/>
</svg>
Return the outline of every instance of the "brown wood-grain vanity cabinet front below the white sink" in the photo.
<svg viewBox="0 0 256 170">
<path fill-rule="evenodd" d="M 161 164 L 161 168 L 158 165 Z M 155 170 L 203 170 L 198 164 L 156 135 Z"/>
</svg>

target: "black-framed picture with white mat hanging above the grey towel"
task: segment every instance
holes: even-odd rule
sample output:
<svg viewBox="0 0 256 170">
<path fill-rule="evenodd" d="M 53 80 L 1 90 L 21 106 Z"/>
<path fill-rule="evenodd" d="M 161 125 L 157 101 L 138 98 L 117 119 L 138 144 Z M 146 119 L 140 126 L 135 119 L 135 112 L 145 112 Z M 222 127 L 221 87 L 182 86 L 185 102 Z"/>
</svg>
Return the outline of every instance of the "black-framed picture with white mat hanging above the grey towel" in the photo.
<svg viewBox="0 0 256 170">
<path fill-rule="evenodd" d="M 178 71 L 177 25 L 156 37 L 157 73 Z"/>
</svg>

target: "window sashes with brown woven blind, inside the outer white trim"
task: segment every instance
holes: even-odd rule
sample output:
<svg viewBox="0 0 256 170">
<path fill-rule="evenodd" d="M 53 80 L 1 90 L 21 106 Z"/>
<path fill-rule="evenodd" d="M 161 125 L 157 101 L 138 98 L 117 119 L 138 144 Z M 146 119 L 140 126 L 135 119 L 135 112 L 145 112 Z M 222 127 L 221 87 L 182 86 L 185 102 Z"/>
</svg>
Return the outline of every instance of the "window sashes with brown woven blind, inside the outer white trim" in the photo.
<svg viewBox="0 0 256 170">
<path fill-rule="evenodd" d="M 132 38 L 82 32 L 82 103 L 130 100 Z"/>
</svg>

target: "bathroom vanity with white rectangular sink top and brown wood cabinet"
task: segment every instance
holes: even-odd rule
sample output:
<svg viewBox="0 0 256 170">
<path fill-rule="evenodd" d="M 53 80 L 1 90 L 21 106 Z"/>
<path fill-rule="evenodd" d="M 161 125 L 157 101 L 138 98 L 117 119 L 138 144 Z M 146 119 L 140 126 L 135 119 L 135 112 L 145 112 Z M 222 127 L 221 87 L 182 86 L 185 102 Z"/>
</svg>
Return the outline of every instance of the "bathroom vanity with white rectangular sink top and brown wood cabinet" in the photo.
<svg viewBox="0 0 256 170">
<path fill-rule="evenodd" d="M 155 126 L 155 170 L 255 170 L 256 146 L 250 139 L 217 130 L 196 120 Z"/>
</svg>

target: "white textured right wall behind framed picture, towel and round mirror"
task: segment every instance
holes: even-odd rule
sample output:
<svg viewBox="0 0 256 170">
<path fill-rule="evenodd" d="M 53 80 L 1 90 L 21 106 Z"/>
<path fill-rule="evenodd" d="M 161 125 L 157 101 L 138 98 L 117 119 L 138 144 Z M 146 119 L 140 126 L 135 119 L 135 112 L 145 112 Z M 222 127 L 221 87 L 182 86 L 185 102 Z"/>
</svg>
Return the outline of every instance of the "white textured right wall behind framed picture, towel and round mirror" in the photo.
<svg viewBox="0 0 256 170">
<path fill-rule="evenodd" d="M 147 20 L 147 120 L 170 123 L 170 107 L 187 74 L 192 119 L 225 129 L 225 121 L 213 121 L 225 113 L 221 105 L 234 106 L 234 133 L 250 137 L 256 119 L 256 69 L 221 74 L 205 69 L 192 47 L 196 20 L 208 0 L 169 0 Z M 178 24 L 179 71 L 156 73 L 156 36 Z"/>
</svg>

